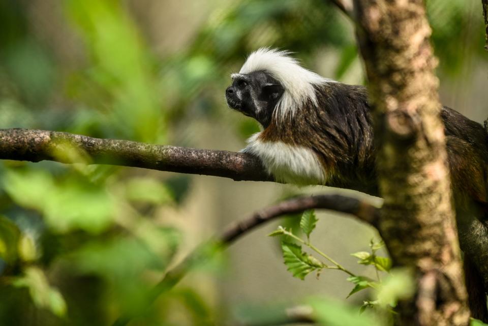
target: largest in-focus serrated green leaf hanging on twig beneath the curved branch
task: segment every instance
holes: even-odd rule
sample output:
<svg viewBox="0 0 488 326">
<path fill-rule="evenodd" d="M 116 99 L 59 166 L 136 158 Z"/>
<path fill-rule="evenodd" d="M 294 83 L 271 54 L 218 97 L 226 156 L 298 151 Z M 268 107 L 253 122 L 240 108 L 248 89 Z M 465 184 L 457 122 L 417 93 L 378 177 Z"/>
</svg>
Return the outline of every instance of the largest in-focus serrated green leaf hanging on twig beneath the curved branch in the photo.
<svg viewBox="0 0 488 326">
<path fill-rule="evenodd" d="M 296 278 L 303 280 L 309 273 L 323 267 L 322 263 L 317 264 L 318 260 L 311 261 L 309 256 L 301 251 L 301 246 L 282 242 L 281 248 L 287 270 Z"/>
</svg>

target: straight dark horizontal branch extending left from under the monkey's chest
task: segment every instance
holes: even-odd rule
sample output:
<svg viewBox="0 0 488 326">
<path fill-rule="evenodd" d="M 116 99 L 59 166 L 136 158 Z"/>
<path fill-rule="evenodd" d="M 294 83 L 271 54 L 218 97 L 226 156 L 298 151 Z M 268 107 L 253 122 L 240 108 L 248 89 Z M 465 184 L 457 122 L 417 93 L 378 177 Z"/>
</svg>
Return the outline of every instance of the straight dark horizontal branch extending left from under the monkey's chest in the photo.
<svg viewBox="0 0 488 326">
<path fill-rule="evenodd" d="M 78 155 L 66 155 L 69 149 L 75 149 Z M 273 181 L 259 159 L 245 153 L 151 145 L 46 130 L 0 129 L 0 159 L 111 164 L 214 175 L 235 181 Z"/>
</svg>

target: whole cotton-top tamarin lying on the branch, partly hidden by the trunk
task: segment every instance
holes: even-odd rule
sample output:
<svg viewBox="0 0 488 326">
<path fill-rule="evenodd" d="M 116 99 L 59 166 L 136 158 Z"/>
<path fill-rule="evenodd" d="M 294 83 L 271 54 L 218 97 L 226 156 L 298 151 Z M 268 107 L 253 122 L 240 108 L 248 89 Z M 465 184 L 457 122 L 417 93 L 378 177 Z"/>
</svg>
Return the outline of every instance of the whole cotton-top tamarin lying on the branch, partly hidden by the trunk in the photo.
<svg viewBox="0 0 488 326">
<path fill-rule="evenodd" d="M 275 179 L 301 185 L 359 183 L 376 194 L 376 154 L 365 87 L 321 77 L 302 68 L 289 52 L 267 48 L 249 55 L 231 77 L 228 105 L 262 126 L 243 152 L 257 156 Z M 488 218 L 488 134 L 453 109 L 444 106 L 440 114 L 461 234 L 471 230 L 475 219 L 484 227 Z M 468 279 L 474 275 L 480 281 L 474 272 L 466 271 L 470 308 L 474 317 L 487 321 L 484 288 Z"/>
</svg>

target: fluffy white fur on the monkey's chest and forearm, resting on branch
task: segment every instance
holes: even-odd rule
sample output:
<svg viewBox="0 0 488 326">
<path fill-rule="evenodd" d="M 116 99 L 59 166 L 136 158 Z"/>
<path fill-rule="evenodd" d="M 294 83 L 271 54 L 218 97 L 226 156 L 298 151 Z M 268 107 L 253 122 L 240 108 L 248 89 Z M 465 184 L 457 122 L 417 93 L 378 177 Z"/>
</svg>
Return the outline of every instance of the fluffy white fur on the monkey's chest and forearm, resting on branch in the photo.
<svg viewBox="0 0 488 326">
<path fill-rule="evenodd" d="M 260 133 L 248 139 L 241 152 L 257 156 L 277 181 L 297 185 L 324 185 L 328 176 L 316 154 L 307 147 L 282 141 L 262 141 Z"/>
</svg>

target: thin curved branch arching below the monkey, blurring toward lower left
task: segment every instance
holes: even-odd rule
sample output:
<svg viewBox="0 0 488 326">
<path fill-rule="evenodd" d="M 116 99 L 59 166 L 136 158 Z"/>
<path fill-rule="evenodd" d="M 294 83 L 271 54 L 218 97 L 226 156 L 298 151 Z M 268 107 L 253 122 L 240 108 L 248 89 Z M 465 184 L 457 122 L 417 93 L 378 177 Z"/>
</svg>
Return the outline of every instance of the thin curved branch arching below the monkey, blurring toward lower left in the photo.
<svg viewBox="0 0 488 326">
<path fill-rule="evenodd" d="M 362 222 L 377 227 L 380 209 L 372 204 L 342 195 L 318 195 L 310 197 L 296 197 L 270 206 L 256 212 L 250 217 L 228 226 L 220 236 L 211 239 L 191 252 L 184 260 L 170 270 L 165 277 L 153 288 L 149 295 L 149 306 L 161 293 L 171 289 L 194 266 L 208 259 L 217 251 L 221 251 L 231 245 L 241 236 L 247 234 L 261 224 L 275 220 L 287 214 L 300 213 L 310 209 L 330 210 L 354 216 Z M 112 326 L 124 326 L 132 317 L 118 318 Z"/>
</svg>

